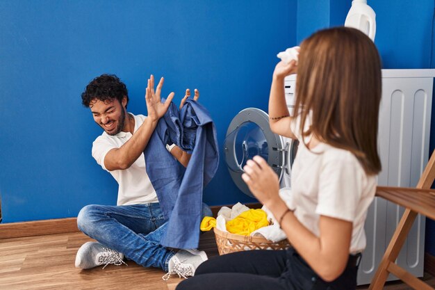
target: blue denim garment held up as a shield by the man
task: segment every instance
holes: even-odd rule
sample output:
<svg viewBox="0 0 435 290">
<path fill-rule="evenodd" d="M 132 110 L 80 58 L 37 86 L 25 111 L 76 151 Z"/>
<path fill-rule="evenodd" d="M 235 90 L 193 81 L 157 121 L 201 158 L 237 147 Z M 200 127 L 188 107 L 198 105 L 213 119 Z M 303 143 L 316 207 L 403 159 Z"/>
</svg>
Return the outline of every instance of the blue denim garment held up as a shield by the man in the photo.
<svg viewBox="0 0 435 290">
<path fill-rule="evenodd" d="M 166 144 L 172 143 L 192 154 L 186 170 L 166 150 Z M 206 108 L 188 99 L 179 111 L 172 102 L 144 154 L 149 179 L 168 220 L 160 243 L 171 248 L 197 248 L 204 186 L 219 164 L 216 129 Z"/>
</svg>

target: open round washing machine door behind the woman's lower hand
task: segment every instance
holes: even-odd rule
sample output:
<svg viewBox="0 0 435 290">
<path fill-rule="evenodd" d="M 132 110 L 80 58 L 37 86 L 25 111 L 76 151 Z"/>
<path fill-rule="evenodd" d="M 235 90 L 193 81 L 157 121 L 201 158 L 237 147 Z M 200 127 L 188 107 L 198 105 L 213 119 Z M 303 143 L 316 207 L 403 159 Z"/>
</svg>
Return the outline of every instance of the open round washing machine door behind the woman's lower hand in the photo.
<svg viewBox="0 0 435 290">
<path fill-rule="evenodd" d="M 258 108 L 245 108 L 233 118 L 224 142 L 229 174 L 243 193 L 254 197 L 243 182 L 246 161 L 259 155 L 277 173 L 281 187 L 290 187 L 290 170 L 297 152 L 297 140 L 274 134 L 269 116 Z"/>
</svg>

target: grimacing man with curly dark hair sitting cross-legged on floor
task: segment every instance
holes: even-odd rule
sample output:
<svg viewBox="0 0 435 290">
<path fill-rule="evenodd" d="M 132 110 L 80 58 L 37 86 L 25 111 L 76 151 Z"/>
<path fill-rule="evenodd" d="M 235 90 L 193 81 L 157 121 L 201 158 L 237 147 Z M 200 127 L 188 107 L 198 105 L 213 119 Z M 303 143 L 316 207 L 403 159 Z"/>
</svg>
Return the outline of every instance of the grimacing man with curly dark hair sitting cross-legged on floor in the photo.
<svg viewBox="0 0 435 290">
<path fill-rule="evenodd" d="M 165 232 L 165 219 L 145 169 L 143 151 L 174 98 L 171 92 L 162 103 L 162 86 L 163 78 L 156 90 L 154 76 L 148 79 L 147 117 L 126 112 L 127 89 L 115 75 L 98 76 L 81 95 L 83 105 L 90 108 L 95 122 L 104 129 L 92 144 L 92 156 L 113 175 L 119 188 L 117 206 L 88 205 L 81 209 L 77 217 L 79 229 L 98 242 L 81 246 L 76 255 L 78 268 L 120 265 L 125 256 L 142 266 L 163 268 L 169 275 L 177 273 L 186 277 L 193 275 L 197 266 L 207 259 L 203 251 L 171 250 L 158 243 Z M 189 96 L 190 90 L 186 90 L 180 108 Z M 198 97 L 195 89 L 194 99 Z M 176 145 L 167 145 L 167 150 L 187 166 L 190 154 Z M 206 206 L 203 211 L 211 214 Z"/>
</svg>

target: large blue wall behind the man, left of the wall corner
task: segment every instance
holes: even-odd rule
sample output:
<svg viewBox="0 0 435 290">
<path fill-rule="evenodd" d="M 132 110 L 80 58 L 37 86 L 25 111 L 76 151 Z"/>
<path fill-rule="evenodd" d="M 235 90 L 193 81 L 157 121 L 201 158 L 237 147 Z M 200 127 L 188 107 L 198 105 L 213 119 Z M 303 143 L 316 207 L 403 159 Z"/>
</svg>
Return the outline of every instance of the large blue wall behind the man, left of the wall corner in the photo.
<svg viewBox="0 0 435 290">
<path fill-rule="evenodd" d="M 3 222 L 76 216 L 115 204 L 117 184 L 90 155 L 101 129 L 81 106 L 101 73 L 129 88 L 145 113 L 149 74 L 179 102 L 199 88 L 222 147 L 247 106 L 267 108 L 277 52 L 295 45 L 296 0 L 0 1 L 0 195 Z M 222 153 L 222 152 L 221 152 Z M 222 154 L 223 157 L 223 154 Z M 223 158 L 204 200 L 253 201 Z"/>
</svg>

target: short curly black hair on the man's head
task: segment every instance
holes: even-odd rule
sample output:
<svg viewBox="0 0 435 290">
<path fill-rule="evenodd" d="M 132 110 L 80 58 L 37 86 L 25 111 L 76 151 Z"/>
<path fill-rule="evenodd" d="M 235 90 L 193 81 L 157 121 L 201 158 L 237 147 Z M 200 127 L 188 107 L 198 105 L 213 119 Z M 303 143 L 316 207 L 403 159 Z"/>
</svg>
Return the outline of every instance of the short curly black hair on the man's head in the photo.
<svg viewBox="0 0 435 290">
<path fill-rule="evenodd" d="M 115 74 L 101 74 L 86 86 L 85 91 L 81 94 L 81 103 L 89 108 L 95 99 L 102 102 L 112 102 L 113 99 L 117 99 L 121 104 L 124 96 L 129 104 L 127 88 Z"/>
</svg>

